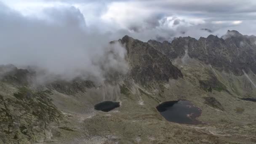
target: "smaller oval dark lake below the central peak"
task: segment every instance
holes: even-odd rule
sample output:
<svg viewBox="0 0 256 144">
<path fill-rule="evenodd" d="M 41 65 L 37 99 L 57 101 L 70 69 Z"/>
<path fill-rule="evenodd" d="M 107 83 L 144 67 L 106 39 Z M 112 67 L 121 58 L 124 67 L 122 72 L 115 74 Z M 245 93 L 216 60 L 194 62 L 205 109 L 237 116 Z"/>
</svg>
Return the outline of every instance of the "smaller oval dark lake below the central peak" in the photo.
<svg viewBox="0 0 256 144">
<path fill-rule="evenodd" d="M 94 105 L 94 109 L 101 110 L 102 112 L 109 112 L 117 107 L 120 107 L 120 102 L 115 101 L 103 101 Z"/>
</svg>

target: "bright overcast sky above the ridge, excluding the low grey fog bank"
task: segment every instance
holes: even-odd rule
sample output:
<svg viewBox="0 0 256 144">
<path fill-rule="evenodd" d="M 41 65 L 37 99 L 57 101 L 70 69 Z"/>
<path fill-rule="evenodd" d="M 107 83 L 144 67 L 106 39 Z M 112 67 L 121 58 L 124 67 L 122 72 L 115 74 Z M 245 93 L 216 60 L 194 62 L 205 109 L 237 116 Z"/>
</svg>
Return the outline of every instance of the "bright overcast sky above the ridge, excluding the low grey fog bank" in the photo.
<svg viewBox="0 0 256 144">
<path fill-rule="evenodd" d="M 224 35 L 235 29 L 256 34 L 255 0 L 2 0 L 24 16 L 47 19 L 46 8 L 77 8 L 90 31 L 147 41 Z M 80 16 L 72 13 L 74 17 Z M 64 13 L 63 13 L 64 14 Z M 77 15 L 76 15 L 77 14 Z"/>
</svg>

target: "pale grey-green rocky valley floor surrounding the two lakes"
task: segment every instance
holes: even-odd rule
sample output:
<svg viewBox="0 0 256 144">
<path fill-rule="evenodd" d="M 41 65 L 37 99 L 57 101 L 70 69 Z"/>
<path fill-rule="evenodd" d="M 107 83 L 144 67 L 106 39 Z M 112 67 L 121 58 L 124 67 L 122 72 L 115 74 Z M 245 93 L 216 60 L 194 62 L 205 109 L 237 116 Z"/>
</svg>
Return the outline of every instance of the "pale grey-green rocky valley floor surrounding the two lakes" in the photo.
<svg viewBox="0 0 256 144">
<path fill-rule="evenodd" d="M 179 63 L 179 60 L 176 62 Z M 187 64 L 184 64 L 181 68 L 181 71 L 184 73 L 184 78 L 170 80 L 169 83 L 165 83 L 163 92 L 157 96 L 155 93 L 146 91 L 136 85 L 129 88 L 129 94 L 120 93 L 118 86 L 113 87 L 112 91 L 107 91 L 105 100 L 121 101 L 121 107 L 111 112 L 101 112 L 93 109 L 94 104 L 104 100 L 103 95 L 105 95 L 105 93 L 103 88 L 91 89 L 88 90 L 85 95 L 71 96 L 71 98 L 64 94 L 59 94 L 59 98 L 56 98 L 57 94 L 54 94 L 54 104 L 62 109 L 65 118 L 61 125 L 53 126 L 53 137 L 50 141 L 45 143 L 256 143 L 256 103 L 240 100 L 239 96 L 226 91 L 219 92 L 213 90 L 212 93 L 210 93 L 202 90 L 200 84 L 193 82 L 193 77 L 197 77 L 197 73 L 202 73 L 203 68 L 198 64 L 195 64 L 194 68 L 191 67 L 191 64 L 189 64 L 189 68 L 186 66 Z M 200 67 L 200 71 L 198 71 L 198 67 Z M 205 65 L 204 67 L 205 69 L 212 69 L 210 66 Z M 221 73 L 216 69 L 214 71 L 219 80 L 223 80 L 223 83 L 227 82 L 226 79 L 228 80 L 229 78 L 227 74 Z M 245 76 L 230 77 L 236 77 L 236 79 L 241 82 L 240 85 L 237 85 L 237 89 L 239 89 L 238 87 L 240 86 L 251 85 L 250 81 L 247 80 Z M 200 75 L 200 78 L 203 79 L 205 77 Z M 229 88 L 230 87 L 227 87 L 227 89 Z M 143 92 L 139 91 L 139 89 Z M 239 90 L 242 91 L 242 88 Z M 116 91 L 116 93 L 113 91 Z M 115 94 L 111 95 L 110 93 Z M 253 93 L 255 93 L 255 89 Z M 112 96 L 112 98 L 110 96 Z M 67 101 L 61 103 L 65 97 L 67 97 Z M 224 110 L 222 111 L 205 104 L 205 97 L 214 97 L 219 101 Z M 189 100 L 197 107 L 200 107 L 203 113 L 198 120 L 206 124 L 181 125 L 171 123 L 157 112 L 155 107 L 160 102 L 177 99 Z M 243 109 L 242 112 L 237 111 L 237 108 Z M 68 127 L 69 129 L 61 129 L 61 126 Z"/>
</svg>

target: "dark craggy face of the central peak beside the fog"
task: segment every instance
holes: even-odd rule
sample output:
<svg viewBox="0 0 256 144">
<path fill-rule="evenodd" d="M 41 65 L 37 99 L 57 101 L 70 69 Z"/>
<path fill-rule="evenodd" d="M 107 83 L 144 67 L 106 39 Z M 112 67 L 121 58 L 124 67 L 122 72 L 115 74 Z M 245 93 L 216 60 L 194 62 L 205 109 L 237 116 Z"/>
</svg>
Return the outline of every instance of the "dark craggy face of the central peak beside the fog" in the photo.
<svg viewBox="0 0 256 144">
<path fill-rule="evenodd" d="M 149 43 L 125 36 L 120 42 L 127 49 L 130 76 L 136 83 L 148 85 L 153 82 L 168 82 L 169 79 L 183 77 L 170 59 L 158 52 Z"/>
</svg>

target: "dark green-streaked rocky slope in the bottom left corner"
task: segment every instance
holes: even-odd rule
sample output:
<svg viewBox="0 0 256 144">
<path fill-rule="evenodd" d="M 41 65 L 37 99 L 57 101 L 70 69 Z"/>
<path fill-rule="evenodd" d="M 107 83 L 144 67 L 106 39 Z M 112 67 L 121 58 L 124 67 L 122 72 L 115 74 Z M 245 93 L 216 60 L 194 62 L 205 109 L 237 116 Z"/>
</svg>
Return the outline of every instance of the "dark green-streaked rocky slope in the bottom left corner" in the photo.
<svg viewBox="0 0 256 144">
<path fill-rule="evenodd" d="M 24 138 L 34 143 L 35 135 L 41 133 L 52 121 L 58 123 L 62 114 L 51 102 L 51 91 L 32 90 L 28 87 L 18 90 L 13 96 L 0 95 L 0 133 L 6 138 Z M 40 131 L 37 131 L 38 128 Z"/>
</svg>

